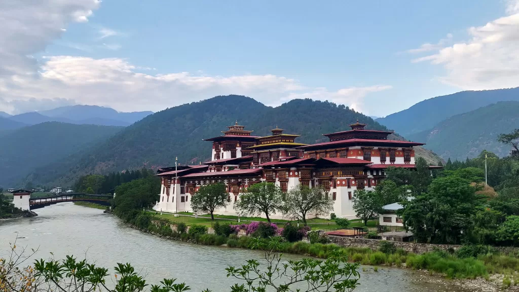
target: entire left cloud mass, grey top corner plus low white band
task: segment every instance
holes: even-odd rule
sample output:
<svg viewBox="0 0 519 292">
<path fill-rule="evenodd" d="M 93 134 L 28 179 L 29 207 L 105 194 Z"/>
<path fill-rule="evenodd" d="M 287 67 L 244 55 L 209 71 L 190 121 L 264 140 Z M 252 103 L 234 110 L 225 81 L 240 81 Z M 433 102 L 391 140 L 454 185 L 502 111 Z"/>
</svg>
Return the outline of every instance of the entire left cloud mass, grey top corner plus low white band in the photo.
<svg viewBox="0 0 519 292">
<path fill-rule="evenodd" d="M 216 95 L 247 95 L 267 105 L 293 98 L 313 98 L 362 109 L 376 85 L 339 90 L 308 87 L 296 79 L 265 75 L 208 76 L 202 72 L 152 74 L 155 68 L 120 58 L 32 57 L 64 33 L 70 22 L 84 22 L 99 7 L 98 0 L 0 1 L 0 109 L 9 113 L 48 109 L 65 104 L 97 104 L 120 111 L 162 110 Z M 118 35 L 99 29 L 100 37 Z M 88 52 L 95 45 L 64 43 Z M 102 46 L 101 46 L 102 45 Z M 117 44 L 98 47 L 116 50 Z M 142 73 L 146 72 L 146 73 Z"/>
</svg>

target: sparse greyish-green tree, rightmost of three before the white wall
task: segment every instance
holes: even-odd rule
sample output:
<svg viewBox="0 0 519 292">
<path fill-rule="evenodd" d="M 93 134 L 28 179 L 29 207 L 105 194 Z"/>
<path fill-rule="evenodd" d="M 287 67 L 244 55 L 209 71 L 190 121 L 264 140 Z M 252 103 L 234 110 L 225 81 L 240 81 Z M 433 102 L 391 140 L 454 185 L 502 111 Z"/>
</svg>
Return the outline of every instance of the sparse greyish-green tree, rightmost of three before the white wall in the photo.
<svg viewBox="0 0 519 292">
<path fill-rule="evenodd" d="M 322 188 L 308 188 L 302 183 L 292 188 L 285 198 L 283 214 L 295 219 L 301 219 L 306 225 L 306 215 L 327 214 L 333 210 L 333 201 L 325 195 Z"/>
</svg>

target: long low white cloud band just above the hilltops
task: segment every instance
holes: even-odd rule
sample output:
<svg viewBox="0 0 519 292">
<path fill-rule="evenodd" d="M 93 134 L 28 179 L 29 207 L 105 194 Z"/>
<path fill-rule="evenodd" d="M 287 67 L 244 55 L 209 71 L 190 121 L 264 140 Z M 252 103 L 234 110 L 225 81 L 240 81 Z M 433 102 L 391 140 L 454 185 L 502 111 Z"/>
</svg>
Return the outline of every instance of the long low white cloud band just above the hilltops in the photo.
<svg viewBox="0 0 519 292">
<path fill-rule="evenodd" d="M 297 80 L 276 75 L 206 76 L 188 72 L 171 74 L 138 73 L 119 58 L 47 57 L 36 81 L 11 81 L 7 99 L 38 97 L 69 99 L 80 104 L 97 104 L 120 111 L 162 110 L 216 95 L 251 96 L 267 105 L 279 105 L 294 98 L 312 98 L 361 109 L 370 92 L 391 86 L 352 87 L 329 91 L 308 88 Z"/>
</svg>

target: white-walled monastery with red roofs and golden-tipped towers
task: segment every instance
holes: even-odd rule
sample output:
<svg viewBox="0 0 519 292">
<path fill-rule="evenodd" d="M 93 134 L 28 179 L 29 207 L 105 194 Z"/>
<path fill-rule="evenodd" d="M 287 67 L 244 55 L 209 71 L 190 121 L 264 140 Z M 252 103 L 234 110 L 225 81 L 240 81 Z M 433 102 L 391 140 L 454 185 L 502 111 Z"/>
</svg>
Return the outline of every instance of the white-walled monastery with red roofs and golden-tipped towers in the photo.
<svg viewBox="0 0 519 292">
<path fill-rule="evenodd" d="M 388 140 L 392 132 L 365 130 L 365 126 L 357 121 L 350 130 L 323 134 L 329 142 L 303 144 L 295 141 L 299 135 L 284 134 L 278 127 L 271 130 L 272 135 L 258 137 L 236 122 L 222 136 L 205 139 L 213 144 L 211 161 L 157 171 L 162 185 L 154 209 L 192 212 L 190 197 L 201 186 L 223 182 L 229 203 L 215 214 L 237 215 L 234 203 L 240 193 L 251 184 L 268 181 L 284 192 L 299 183 L 320 186 L 332 197 L 337 217 L 354 219 L 355 190 L 373 190 L 385 178 L 387 167 L 415 168 L 413 146 L 424 145 Z"/>
</svg>

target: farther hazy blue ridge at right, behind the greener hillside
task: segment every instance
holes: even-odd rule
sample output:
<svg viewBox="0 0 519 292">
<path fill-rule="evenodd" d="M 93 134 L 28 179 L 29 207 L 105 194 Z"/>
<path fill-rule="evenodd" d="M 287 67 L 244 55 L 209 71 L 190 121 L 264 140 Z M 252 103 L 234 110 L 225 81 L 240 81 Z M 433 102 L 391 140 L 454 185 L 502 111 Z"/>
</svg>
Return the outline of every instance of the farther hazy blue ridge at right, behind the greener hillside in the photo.
<svg viewBox="0 0 519 292">
<path fill-rule="evenodd" d="M 519 101 L 519 87 L 483 91 L 461 91 L 427 99 L 407 110 L 377 118 L 376 121 L 404 137 L 410 137 L 453 115 L 466 113 L 498 101 Z"/>
</svg>

